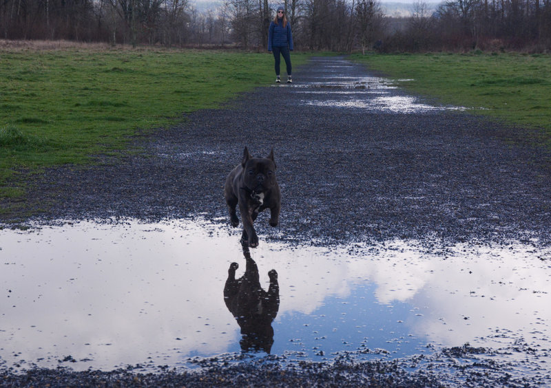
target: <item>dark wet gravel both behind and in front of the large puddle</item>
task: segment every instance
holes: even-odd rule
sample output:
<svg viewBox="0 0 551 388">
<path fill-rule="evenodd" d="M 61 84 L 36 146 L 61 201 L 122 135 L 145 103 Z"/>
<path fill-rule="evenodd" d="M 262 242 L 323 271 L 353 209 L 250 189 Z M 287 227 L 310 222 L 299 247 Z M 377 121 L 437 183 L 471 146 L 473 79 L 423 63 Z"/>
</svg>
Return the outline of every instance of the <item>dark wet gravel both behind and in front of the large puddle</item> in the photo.
<svg viewBox="0 0 551 388">
<path fill-rule="evenodd" d="M 365 67 L 343 58 L 315 59 L 295 71 L 292 87 L 259 88 L 222 109 L 190 114 L 177 127 L 136 136 L 132 152 L 98 157 L 96 166 L 48 169 L 30 178 L 34 189 L 24 213 L 4 214 L 0 222 L 203 217 L 228 223 L 222 186 L 247 146 L 255 156 L 273 147 L 282 190 L 280 226 L 267 226 L 269 215 L 256 222 L 260 244 L 262 239 L 316 245 L 390 239 L 427 246 L 551 243 L 551 151 L 533 140 L 537 131 L 455 110 L 368 109 L 380 93 L 406 96 L 401 89 L 350 83 L 368 75 Z M 361 106 L 354 103 L 358 98 Z M 337 107 L 335 99 L 348 105 Z M 437 365 L 445 367 L 419 370 L 410 369 L 413 360 L 284 368 L 277 358 L 211 363 L 193 373 L 5 370 L 0 385 L 522 387 L 541 382 L 511 377 L 506 366 L 479 362 L 478 369 L 470 369 L 472 363 L 459 367 L 449 361 L 471 356 L 443 354 L 447 363 Z"/>
</svg>

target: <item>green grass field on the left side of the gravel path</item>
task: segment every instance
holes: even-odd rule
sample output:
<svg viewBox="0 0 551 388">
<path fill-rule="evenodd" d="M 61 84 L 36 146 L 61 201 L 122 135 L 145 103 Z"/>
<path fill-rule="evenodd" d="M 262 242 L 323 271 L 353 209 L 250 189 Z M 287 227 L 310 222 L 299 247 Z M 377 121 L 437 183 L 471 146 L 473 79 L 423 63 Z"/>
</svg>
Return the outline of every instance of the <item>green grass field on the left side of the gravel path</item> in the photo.
<svg viewBox="0 0 551 388">
<path fill-rule="evenodd" d="M 293 65 L 307 57 L 293 53 Z M 268 53 L 0 51 L 0 204 L 25 193 L 25 174 L 93 163 L 125 149 L 137 131 L 174 125 L 272 82 Z"/>
</svg>

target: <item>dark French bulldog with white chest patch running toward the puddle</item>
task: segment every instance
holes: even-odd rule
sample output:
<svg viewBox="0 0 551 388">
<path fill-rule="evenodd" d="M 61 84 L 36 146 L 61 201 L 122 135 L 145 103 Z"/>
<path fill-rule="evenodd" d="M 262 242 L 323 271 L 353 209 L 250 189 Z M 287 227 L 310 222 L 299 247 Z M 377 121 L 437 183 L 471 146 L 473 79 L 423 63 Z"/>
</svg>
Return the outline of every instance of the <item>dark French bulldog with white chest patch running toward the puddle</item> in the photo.
<svg viewBox="0 0 551 388">
<path fill-rule="evenodd" d="M 269 224 L 278 226 L 281 209 L 281 192 L 275 180 L 273 149 L 267 158 L 253 158 L 247 147 L 241 164 L 229 173 L 224 187 L 224 196 L 229 208 L 229 220 L 234 228 L 239 225 L 236 206 L 243 222 L 241 243 L 251 248 L 258 246 L 258 236 L 253 222 L 258 213 L 269 208 Z"/>
</svg>

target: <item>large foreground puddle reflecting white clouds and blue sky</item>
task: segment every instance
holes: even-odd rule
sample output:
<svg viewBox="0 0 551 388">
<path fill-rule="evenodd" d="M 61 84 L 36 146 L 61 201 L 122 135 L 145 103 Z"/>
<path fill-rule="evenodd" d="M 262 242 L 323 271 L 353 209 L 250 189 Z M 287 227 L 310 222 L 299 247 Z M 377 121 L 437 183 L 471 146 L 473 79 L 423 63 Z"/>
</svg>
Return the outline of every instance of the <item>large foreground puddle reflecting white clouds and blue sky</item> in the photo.
<svg viewBox="0 0 551 388">
<path fill-rule="evenodd" d="M 267 293 L 249 289 L 264 303 L 241 294 L 240 311 L 231 312 L 228 270 L 238 263 L 240 277 L 246 268 L 239 236 L 187 221 L 0 230 L 0 363 L 187 367 L 190 358 L 244 349 L 389 359 L 464 343 L 530 347 L 537 363 L 548 358 L 549 249 L 465 244 L 427 252 L 416 241 L 317 248 L 261 237 L 250 254 Z M 269 289 L 272 269 L 278 295 Z M 226 296 L 235 306 L 239 296 Z"/>
</svg>

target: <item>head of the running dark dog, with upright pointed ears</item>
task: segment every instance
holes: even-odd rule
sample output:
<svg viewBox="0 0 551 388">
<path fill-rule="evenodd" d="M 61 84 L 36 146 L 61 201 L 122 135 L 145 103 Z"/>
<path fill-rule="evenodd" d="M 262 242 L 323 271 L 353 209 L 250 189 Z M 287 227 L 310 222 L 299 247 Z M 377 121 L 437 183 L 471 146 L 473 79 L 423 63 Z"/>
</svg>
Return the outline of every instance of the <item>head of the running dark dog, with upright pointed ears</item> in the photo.
<svg viewBox="0 0 551 388">
<path fill-rule="evenodd" d="M 243 151 L 243 181 L 245 188 L 251 193 L 251 197 L 262 202 L 264 193 L 267 193 L 275 185 L 275 162 L 273 160 L 273 149 L 267 158 L 253 158 L 247 147 Z"/>
</svg>

